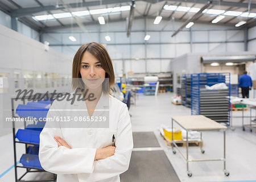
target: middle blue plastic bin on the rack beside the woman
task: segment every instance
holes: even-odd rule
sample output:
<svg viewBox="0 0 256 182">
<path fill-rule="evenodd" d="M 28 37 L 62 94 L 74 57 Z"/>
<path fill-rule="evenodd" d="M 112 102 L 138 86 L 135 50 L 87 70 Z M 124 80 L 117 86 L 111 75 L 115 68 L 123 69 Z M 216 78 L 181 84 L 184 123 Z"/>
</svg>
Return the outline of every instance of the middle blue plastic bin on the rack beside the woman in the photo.
<svg viewBox="0 0 256 182">
<path fill-rule="evenodd" d="M 31 143 L 31 144 L 39 144 L 41 131 L 36 130 L 27 130 L 27 129 L 19 129 L 16 133 L 16 138 L 20 142 Z"/>
</svg>

